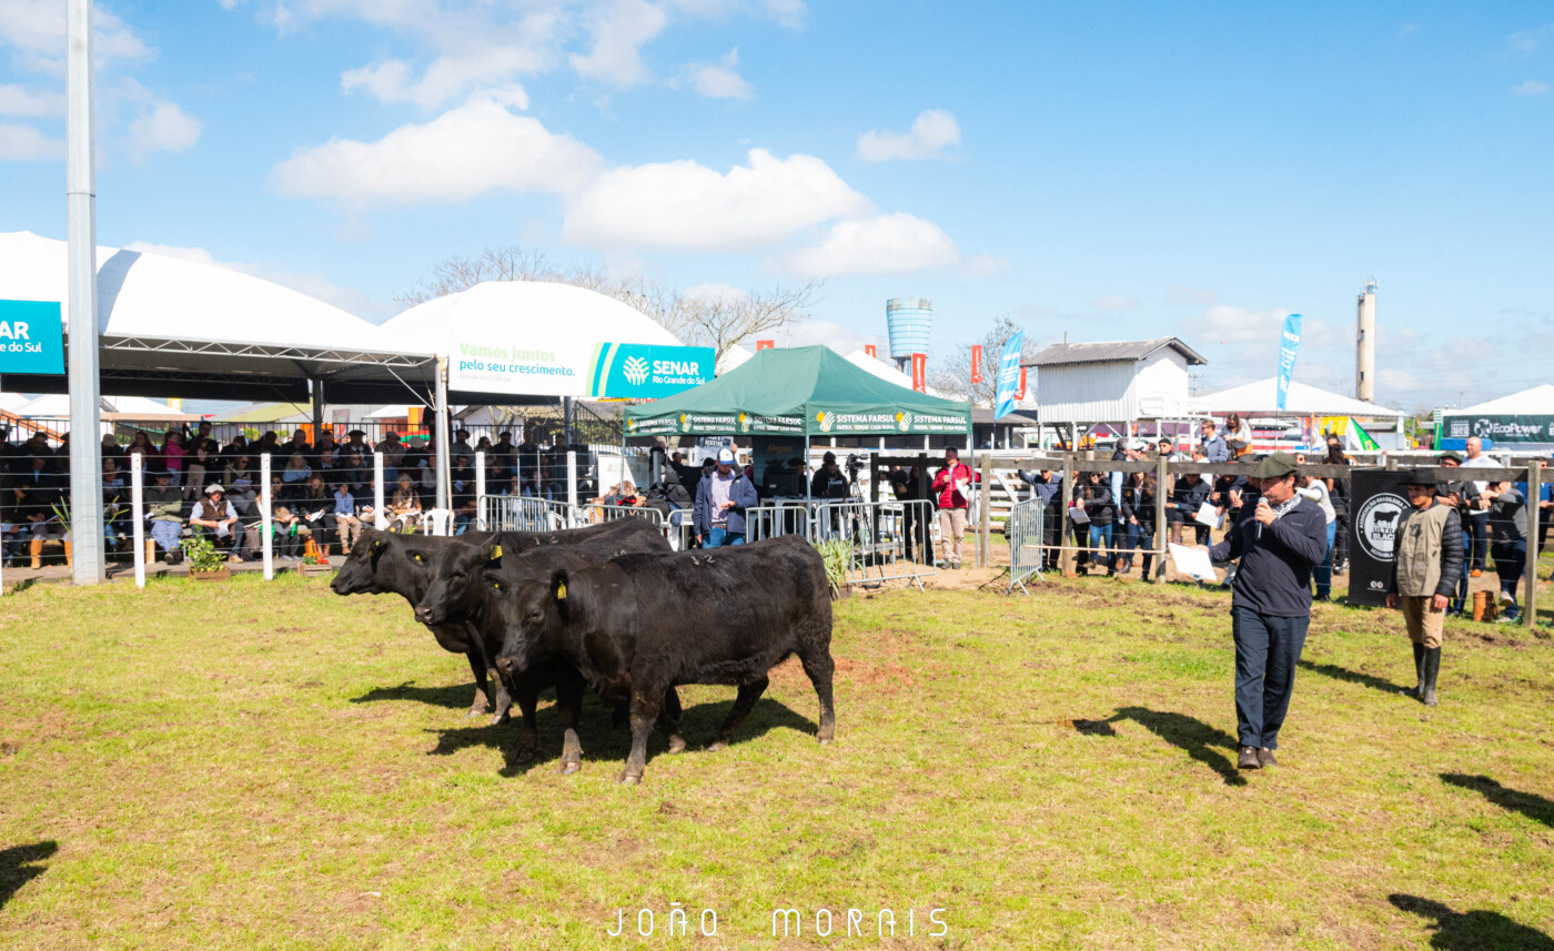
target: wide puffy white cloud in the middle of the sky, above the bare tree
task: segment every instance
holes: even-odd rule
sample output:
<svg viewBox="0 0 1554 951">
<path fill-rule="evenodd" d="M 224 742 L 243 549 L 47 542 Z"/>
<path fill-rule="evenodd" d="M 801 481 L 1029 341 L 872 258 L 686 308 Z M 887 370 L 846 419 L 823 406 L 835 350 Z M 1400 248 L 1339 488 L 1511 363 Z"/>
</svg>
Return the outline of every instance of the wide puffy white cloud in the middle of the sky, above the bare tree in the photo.
<svg viewBox="0 0 1554 951">
<path fill-rule="evenodd" d="M 813 155 L 749 158 L 726 174 L 690 160 L 611 169 L 567 210 L 561 235 L 589 247 L 749 250 L 872 208 Z"/>
</svg>

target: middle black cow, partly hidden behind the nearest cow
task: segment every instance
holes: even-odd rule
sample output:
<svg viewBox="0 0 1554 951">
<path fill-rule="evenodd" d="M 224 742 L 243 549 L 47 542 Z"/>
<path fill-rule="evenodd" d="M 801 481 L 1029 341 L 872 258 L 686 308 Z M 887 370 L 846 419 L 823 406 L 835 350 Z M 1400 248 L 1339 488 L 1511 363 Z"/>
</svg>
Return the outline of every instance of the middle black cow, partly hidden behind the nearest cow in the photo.
<svg viewBox="0 0 1554 951">
<path fill-rule="evenodd" d="M 443 545 L 432 559 L 426 595 L 415 606 L 415 618 L 427 626 L 468 625 L 482 639 L 483 656 L 496 657 L 507 631 L 494 601 L 496 584 L 513 587 L 528 580 L 549 581 L 558 570 L 575 572 L 618 555 L 670 550 L 664 533 L 643 519 L 622 519 L 620 528 L 577 544 L 527 552 L 508 550 L 503 536 L 479 545 Z M 577 735 L 583 710 L 583 676 L 566 657 L 550 656 L 514 674 L 503 673 L 502 678 L 524 716 L 524 751 L 519 761 L 531 758 L 539 746 L 535 726 L 539 691 L 555 687 L 556 707 L 564 723 L 561 772 L 577 772 L 583 766 L 583 746 Z M 674 752 L 685 747 L 676 730 L 678 718 L 679 696 L 670 696 L 665 701 L 664 727 Z"/>
</svg>

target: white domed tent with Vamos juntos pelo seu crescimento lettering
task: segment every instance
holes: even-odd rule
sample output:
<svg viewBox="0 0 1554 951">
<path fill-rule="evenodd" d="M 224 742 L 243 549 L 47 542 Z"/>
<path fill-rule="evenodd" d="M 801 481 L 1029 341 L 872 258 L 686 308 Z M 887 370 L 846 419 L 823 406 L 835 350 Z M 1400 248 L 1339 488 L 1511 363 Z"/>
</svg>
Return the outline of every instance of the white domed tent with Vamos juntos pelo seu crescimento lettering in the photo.
<svg viewBox="0 0 1554 951">
<path fill-rule="evenodd" d="M 587 396 L 601 345 L 681 345 L 614 297 L 545 281 L 476 284 L 413 306 L 381 331 L 395 350 L 446 356 L 448 388 L 465 395 Z"/>
</svg>

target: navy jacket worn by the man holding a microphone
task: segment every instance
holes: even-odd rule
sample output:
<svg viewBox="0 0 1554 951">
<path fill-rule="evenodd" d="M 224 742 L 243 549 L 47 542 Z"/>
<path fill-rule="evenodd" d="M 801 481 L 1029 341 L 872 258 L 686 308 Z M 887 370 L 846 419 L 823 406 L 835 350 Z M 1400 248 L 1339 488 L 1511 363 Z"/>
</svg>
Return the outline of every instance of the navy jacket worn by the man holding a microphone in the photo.
<svg viewBox="0 0 1554 951">
<path fill-rule="evenodd" d="M 1209 549 L 1214 561 L 1242 561 L 1231 586 L 1231 609 L 1246 608 L 1270 617 L 1312 615 L 1312 567 L 1326 556 L 1327 516 L 1308 499 L 1301 499 L 1273 525 L 1243 517 L 1231 525 L 1225 541 Z"/>
</svg>

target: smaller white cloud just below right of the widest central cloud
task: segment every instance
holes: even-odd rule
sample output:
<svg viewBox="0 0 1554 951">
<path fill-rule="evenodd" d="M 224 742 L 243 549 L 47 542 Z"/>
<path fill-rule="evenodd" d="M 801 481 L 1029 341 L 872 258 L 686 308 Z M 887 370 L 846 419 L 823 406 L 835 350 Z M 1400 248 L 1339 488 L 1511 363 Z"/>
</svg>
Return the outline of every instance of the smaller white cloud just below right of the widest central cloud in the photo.
<svg viewBox="0 0 1554 951">
<path fill-rule="evenodd" d="M 956 242 L 939 225 L 914 214 L 895 213 L 841 221 L 819 246 L 783 255 L 782 266 L 808 278 L 903 273 L 959 261 Z"/>
</svg>

